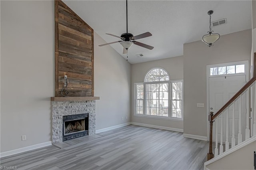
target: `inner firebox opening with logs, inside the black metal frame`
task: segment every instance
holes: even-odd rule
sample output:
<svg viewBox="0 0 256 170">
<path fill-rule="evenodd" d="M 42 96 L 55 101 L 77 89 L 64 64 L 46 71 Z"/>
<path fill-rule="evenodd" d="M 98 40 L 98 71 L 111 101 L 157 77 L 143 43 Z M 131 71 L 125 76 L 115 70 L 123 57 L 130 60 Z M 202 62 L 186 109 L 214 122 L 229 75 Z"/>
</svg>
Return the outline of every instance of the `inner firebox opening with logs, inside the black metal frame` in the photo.
<svg viewBox="0 0 256 170">
<path fill-rule="evenodd" d="M 85 121 L 84 119 L 65 121 L 64 122 L 64 135 L 77 133 L 85 130 Z"/>
</svg>

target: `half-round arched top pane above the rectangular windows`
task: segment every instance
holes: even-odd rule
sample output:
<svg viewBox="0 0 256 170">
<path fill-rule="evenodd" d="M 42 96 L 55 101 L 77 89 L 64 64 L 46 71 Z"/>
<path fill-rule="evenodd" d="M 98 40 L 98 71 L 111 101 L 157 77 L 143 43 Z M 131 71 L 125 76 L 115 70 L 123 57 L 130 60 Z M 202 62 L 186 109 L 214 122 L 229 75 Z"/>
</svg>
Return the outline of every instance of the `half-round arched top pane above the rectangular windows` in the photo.
<svg viewBox="0 0 256 170">
<path fill-rule="evenodd" d="M 152 81 L 168 81 L 169 75 L 168 73 L 162 68 L 154 68 L 148 71 L 145 77 L 145 82 L 152 82 Z"/>
</svg>

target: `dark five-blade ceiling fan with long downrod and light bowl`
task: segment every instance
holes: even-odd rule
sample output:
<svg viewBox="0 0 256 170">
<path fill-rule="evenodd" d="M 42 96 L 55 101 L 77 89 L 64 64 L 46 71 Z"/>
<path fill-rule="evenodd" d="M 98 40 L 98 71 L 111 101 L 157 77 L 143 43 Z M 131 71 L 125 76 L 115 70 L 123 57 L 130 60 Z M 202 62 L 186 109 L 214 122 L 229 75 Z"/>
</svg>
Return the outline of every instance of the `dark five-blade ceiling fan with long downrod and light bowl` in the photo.
<svg viewBox="0 0 256 170">
<path fill-rule="evenodd" d="M 112 43 L 120 42 L 120 44 L 124 47 L 123 54 L 127 53 L 128 49 L 132 46 L 132 44 L 139 45 L 139 46 L 147 48 L 147 49 L 153 49 L 154 48 L 150 45 L 134 41 L 134 40 L 138 40 L 138 39 L 141 39 L 141 38 L 146 38 L 146 37 L 152 36 L 152 34 L 150 32 L 145 32 L 145 33 L 140 34 L 138 36 L 133 36 L 132 34 L 128 33 L 127 0 L 126 0 L 126 33 L 122 34 L 121 36 L 115 36 L 113 34 L 107 34 L 107 35 L 114 36 L 116 38 L 120 38 L 121 40 L 116 41 L 116 42 L 111 42 L 111 43 L 105 43 L 105 44 L 102 44 L 102 45 L 99 45 L 99 46 L 101 47 L 101 46 L 104 46 L 104 45 L 109 45 L 109 44 L 112 44 Z"/>
</svg>

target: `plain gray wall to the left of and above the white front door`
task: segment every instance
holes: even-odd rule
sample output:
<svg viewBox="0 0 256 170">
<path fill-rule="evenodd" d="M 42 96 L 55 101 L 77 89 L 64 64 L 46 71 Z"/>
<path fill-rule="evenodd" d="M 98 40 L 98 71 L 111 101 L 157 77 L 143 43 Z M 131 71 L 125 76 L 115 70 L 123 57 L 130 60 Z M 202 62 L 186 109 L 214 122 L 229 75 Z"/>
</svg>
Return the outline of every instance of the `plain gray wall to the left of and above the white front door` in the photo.
<svg viewBox="0 0 256 170">
<path fill-rule="evenodd" d="M 251 47 L 252 30 L 221 36 L 213 47 L 202 41 L 184 44 L 184 133 L 207 136 L 206 65 L 250 60 Z"/>
</svg>

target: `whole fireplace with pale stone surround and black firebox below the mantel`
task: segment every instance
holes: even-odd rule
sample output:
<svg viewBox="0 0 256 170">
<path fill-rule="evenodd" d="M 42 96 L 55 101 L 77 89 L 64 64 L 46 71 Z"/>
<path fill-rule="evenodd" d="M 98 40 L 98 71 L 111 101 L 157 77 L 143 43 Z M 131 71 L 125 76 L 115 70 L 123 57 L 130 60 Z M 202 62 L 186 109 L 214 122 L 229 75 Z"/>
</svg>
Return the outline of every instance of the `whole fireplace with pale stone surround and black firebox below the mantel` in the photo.
<svg viewBox="0 0 256 170">
<path fill-rule="evenodd" d="M 62 98 L 70 99 L 71 97 Z M 58 144 L 81 135 L 95 134 L 95 116 L 95 100 L 52 101 L 52 143 Z M 63 119 L 67 121 L 65 124 Z M 78 125 L 76 121 L 80 119 L 84 119 L 84 123 L 82 120 L 78 121 L 81 126 L 84 124 L 84 130 L 76 128 L 71 130 L 76 124 Z M 65 132 L 65 126 L 68 125 L 70 130 Z"/>
</svg>

